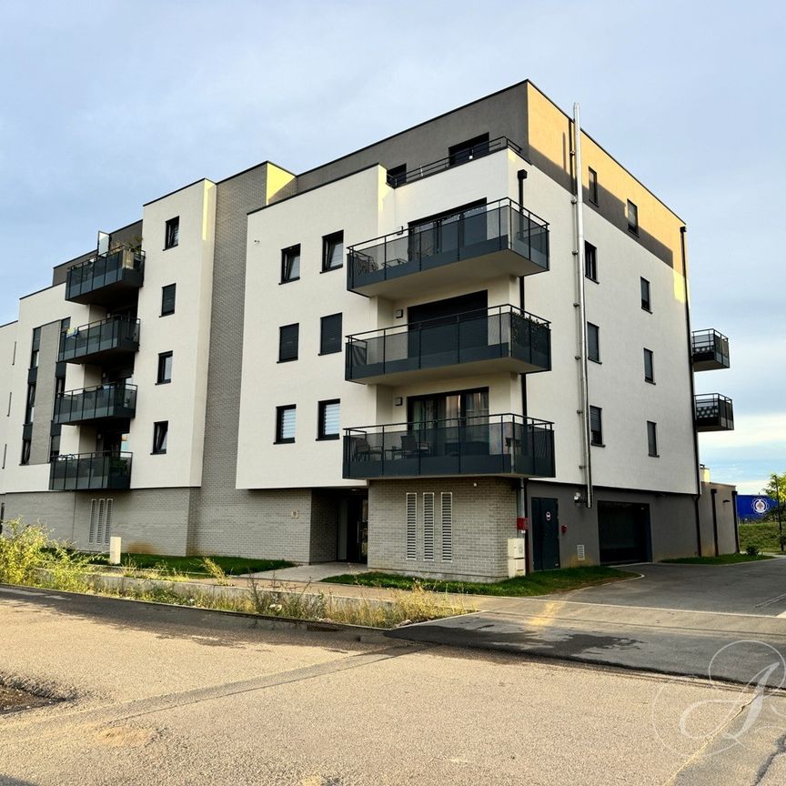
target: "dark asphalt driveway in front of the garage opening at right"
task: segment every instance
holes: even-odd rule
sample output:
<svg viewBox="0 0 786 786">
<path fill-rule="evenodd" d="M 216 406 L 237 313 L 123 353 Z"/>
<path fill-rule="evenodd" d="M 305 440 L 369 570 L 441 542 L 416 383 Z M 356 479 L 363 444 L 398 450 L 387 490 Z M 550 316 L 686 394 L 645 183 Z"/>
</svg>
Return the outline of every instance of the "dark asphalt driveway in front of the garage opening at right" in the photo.
<svg viewBox="0 0 786 786">
<path fill-rule="evenodd" d="M 786 559 L 735 565 L 659 563 L 630 569 L 643 574 L 643 578 L 547 597 L 649 609 L 786 616 Z"/>
</svg>

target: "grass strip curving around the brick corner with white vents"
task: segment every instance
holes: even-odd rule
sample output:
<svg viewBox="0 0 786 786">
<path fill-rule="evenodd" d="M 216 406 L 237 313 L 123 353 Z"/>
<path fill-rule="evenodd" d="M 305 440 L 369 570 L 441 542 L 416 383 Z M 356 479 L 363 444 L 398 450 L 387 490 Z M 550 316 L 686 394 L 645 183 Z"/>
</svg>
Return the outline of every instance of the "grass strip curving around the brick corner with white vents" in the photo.
<svg viewBox="0 0 786 786">
<path fill-rule="evenodd" d="M 324 581 L 334 584 L 359 584 L 363 587 L 389 587 L 392 589 L 412 589 L 419 584 L 423 589 L 435 592 L 457 592 L 469 595 L 507 595 L 525 597 L 547 595 L 549 592 L 563 592 L 568 589 L 591 587 L 606 581 L 620 581 L 638 576 L 627 570 L 591 566 L 589 568 L 565 568 L 561 570 L 541 570 L 529 576 L 483 584 L 477 581 L 439 581 L 437 579 L 418 579 L 410 576 L 396 576 L 391 573 L 360 573 L 357 576 L 344 574 Z"/>
</svg>

